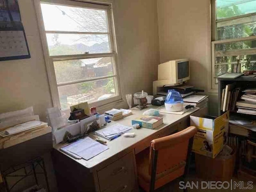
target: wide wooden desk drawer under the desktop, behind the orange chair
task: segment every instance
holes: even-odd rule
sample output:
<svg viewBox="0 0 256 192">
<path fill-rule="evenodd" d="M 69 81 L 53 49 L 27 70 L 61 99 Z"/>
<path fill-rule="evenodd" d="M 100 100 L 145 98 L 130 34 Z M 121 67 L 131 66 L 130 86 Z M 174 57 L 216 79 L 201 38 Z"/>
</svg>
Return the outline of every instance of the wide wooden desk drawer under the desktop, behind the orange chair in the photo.
<svg viewBox="0 0 256 192">
<path fill-rule="evenodd" d="M 138 144 L 136 144 L 135 147 L 135 154 L 138 154 L 139 152 L 143 151 L 144 149 L 148 148 L 150 145 L 150 142 L 154 139 L 161 138 L 164 136 L 168 136 L 178 130 L 178 124 L 168 126 L 166 128 L 163 128 L 162 130 L 158 131 L 157 133 L 151 135 L 150 137 L 146 138 L 145 140 L 142 140 Z"/>
</svg>

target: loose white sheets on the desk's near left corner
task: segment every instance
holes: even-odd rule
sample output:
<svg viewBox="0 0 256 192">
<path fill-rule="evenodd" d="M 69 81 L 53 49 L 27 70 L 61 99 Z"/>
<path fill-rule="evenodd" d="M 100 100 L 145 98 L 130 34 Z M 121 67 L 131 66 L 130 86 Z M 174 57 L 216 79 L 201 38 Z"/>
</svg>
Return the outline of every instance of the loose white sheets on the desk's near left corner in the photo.
<svg viewBox="0 0 256 192">
<path fill-rule="evenodd" d="M 96 142 L 90 137 L 86 137 L 82 140 L 78 140 L 68 146 L 60 148 L 61 151 L 69 154 L 73 158 L 89 160 L 94 156 L 104 152 L 109 147 Z"/>
</svg>

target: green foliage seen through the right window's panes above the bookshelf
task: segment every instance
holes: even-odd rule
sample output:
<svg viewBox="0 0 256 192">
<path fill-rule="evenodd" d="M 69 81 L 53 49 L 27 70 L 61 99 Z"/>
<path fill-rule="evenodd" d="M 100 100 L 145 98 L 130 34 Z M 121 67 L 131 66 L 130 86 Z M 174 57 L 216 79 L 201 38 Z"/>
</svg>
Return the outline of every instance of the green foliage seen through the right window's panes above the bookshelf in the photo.
<svg viewBox="0 0 256 192">
<path fill-rule="evenodd" d="M 256 1 L 255 1 L 256 3 Z M 217 7 L 217 18 L 230 18 L 233 16 L 238 16 L 245 14 L 238 6 L 226 6 L 226 7 Z M 256 10 L 255 10 L 256 12 Z M 232 39 L 232 38 L 242 38 L 247 36 L 256 35 L 256 16 L 250 16 L 247 18 L 236 19 L 226 22 L 218 22 L 217 24 L 217 40 Z M 256 40 L 243 41 L 243 42 L 230 42 L 216 44 L 215 51 L 225 51 L 225 50 L 237 50 L 245 48 L 255 48 Z M 221 56 L 216 57 L 216 63 L 229 63 L 237 62 L 237 59 L 242 59 L 246 61 L 256 60 L 256 55 L 243 55 L 243 56 Z M 241 70 L 245 70 L 246 67 L 242 64 Z M 225 72 L 236 72 L 234 64 L 221 64 L 215 65 L 215 75 L 219 76 Z"/>
</svg>

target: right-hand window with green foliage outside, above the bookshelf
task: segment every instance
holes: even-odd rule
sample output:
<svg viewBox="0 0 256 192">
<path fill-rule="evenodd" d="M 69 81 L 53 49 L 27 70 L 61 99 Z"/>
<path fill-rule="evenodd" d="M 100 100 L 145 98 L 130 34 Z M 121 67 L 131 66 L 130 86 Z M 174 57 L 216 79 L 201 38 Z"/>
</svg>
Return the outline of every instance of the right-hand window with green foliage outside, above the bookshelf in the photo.
<svg viewBox="0 0 256 192">
<path fill-rule="evenodd" d="M 256 0 L 212 0 L 212 89 L 244 70 L 256 70 Z"/>
</svg>

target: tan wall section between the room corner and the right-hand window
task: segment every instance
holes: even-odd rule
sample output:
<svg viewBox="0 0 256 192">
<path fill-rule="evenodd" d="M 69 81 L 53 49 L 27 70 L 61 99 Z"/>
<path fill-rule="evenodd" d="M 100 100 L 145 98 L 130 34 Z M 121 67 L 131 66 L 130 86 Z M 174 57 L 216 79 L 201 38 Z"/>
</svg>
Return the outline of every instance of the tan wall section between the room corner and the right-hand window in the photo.
<svg viewBox="0 0 256 192">
<path fill-rule="evenodd" d="M 160 63 L 191 61 L 190 84 L 209 94 L 210 114 L 217 115 L 216 94 L 207 92 L 210 66 L 210 0 L 158 0 Z"/>
</svg>

